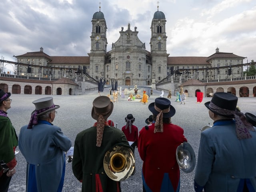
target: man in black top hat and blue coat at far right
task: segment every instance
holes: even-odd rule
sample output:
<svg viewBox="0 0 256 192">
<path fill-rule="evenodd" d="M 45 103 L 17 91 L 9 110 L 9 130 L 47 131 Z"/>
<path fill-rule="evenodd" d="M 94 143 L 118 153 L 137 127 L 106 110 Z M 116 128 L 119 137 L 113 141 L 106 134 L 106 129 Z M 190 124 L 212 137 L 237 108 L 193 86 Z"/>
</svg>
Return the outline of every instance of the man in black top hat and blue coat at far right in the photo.
<svg viewBox="0 0 256 192">
<path fill-rule="evenodd" d="M 204 105 L 213 126 L 201 132 L 196 192 L 256 191 L 256 130 L 236 110 L 238 98 L 216 92 Z"/>
</svg>

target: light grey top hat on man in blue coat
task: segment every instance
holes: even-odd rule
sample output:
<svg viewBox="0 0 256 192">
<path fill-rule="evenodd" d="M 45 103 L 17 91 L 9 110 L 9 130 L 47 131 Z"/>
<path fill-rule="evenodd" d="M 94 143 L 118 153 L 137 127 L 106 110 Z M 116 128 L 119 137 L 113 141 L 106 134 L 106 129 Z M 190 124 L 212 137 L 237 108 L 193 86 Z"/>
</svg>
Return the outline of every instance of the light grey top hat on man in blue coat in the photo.
<svg viewBox="0 0 256 192">
<path fill-rule="evenodd" d="M 49 108 L 41 113 L 38 113 L 37 116 L 45 114 L 48 111 L 52 111 L 54 109 L 60 108 L 59 105 L 55 105 L 54 107 L 52 107 L 54 105 L 52 97 L 40 98 L 40 99 L 34 100 L 32 103 L 36 106 L 36 109 L 32 112 L 32 114 L 34 114 L 36 112 L 36 110 L 42 110 L 45 108 Z M 50 107 L 52 107 L 52 108 L 50 108 Z"/>
</svg>

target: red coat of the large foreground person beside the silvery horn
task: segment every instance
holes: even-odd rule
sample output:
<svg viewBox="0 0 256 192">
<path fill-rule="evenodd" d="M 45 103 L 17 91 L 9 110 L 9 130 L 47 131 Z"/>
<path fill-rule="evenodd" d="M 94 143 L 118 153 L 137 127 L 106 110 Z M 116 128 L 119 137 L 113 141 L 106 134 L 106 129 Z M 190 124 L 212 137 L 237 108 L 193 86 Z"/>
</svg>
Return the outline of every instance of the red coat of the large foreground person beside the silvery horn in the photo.
<svg viewBox="0 0 256 192">
<path fill-rule="evenodd" d="M 187 141 L 184 130 L 172 123 L 164 124 L 164 132 L 154 133 L 154 128 L 154 123 L 148 126 L 148 130 L 143 127 L 139 135 L 138 152 L 143 160 L 144 187 L 150 188 L 152 192 L 176 192 L 180 181 L 176 148 Z"/>
</svg>

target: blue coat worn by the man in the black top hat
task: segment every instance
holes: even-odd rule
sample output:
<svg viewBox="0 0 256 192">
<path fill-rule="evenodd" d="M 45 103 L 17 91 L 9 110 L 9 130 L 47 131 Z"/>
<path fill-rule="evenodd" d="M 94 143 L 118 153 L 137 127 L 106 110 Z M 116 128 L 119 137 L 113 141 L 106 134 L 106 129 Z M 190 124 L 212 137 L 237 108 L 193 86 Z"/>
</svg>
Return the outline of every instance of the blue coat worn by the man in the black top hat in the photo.
<svg viewBox="0 0 256 192">
<path fill-rule="evenodd" d="M 244 182 L 256 189 L 256 132 L 238 140 L 235 121 L 217 121 L 201 132 L 195 190 L 241 192 Z"/>
</svg>

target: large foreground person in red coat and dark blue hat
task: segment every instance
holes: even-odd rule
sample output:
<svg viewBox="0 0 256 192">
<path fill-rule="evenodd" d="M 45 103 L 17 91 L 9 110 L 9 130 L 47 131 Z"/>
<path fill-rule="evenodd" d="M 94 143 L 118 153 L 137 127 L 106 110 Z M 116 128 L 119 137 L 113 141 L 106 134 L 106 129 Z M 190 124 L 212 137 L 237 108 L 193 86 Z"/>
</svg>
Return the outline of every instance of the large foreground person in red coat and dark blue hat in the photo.
<svg viewBox="0 0 256 192">
<path fill-rule="evenodd" d="M 152 112 L 152 124 L 140 130 L 138 151 L 143 160 L 143 191 L 180 190 L 180 169 L 176 160 L 176 148 L 187 141 L 184 130 L 170 122 L 175 108 L 167 98 L 156 98 L 148 109 Z"/>
</svg>

